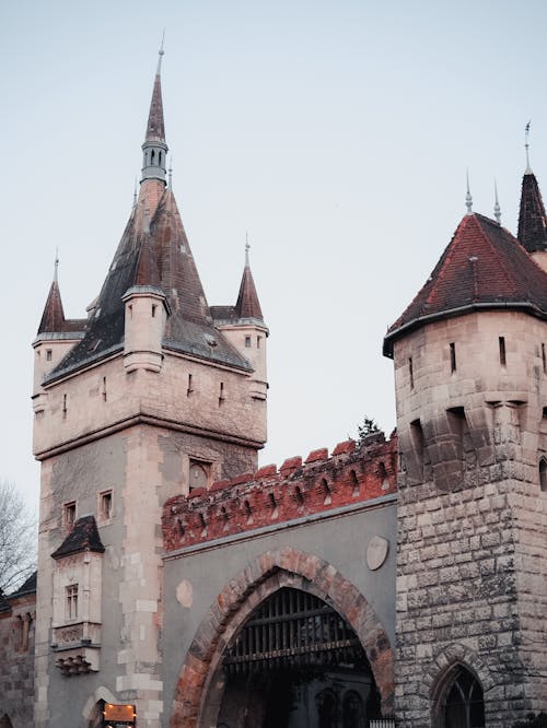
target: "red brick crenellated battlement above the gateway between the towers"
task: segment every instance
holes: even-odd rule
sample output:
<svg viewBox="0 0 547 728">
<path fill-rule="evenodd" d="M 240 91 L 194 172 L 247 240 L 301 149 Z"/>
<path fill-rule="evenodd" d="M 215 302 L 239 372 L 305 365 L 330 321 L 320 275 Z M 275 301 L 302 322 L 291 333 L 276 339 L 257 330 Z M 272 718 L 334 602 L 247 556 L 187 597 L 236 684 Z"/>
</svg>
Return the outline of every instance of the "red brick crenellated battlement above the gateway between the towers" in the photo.
<svg viewBox="0 0 547 728">
<path fill-rule="evenodd" d="M 369 501 L 397 488 L 397 437 L 382 433 L 361 446 L 349 439 L 313 450 L 303 461 L 292 457 L 255 473 L 219 481 L 209 490 L 176 495 L 163 506 L 166 551 L 205 543 L 242 531 Z"/>
</svg>

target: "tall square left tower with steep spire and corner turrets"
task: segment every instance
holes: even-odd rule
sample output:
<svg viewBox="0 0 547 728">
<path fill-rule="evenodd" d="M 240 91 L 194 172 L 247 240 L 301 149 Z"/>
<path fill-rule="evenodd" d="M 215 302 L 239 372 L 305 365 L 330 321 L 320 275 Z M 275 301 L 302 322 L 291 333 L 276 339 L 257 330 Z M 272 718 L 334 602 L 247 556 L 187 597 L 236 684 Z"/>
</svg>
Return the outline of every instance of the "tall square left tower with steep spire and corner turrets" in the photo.
<svg viewBox="0 0 547 728">
<path fill-rule="evenodd" d="M 255 471 L 266 441 L 268 329 L 248 260 L 236 305 L 208 306 L 165 179 L 162 55 L 101 293 L 66 319 L 56 267 L 33 344 L 36 726 L 94 725 L 101 701 L 162 725 L 162 505 Z"/>
</svg>

